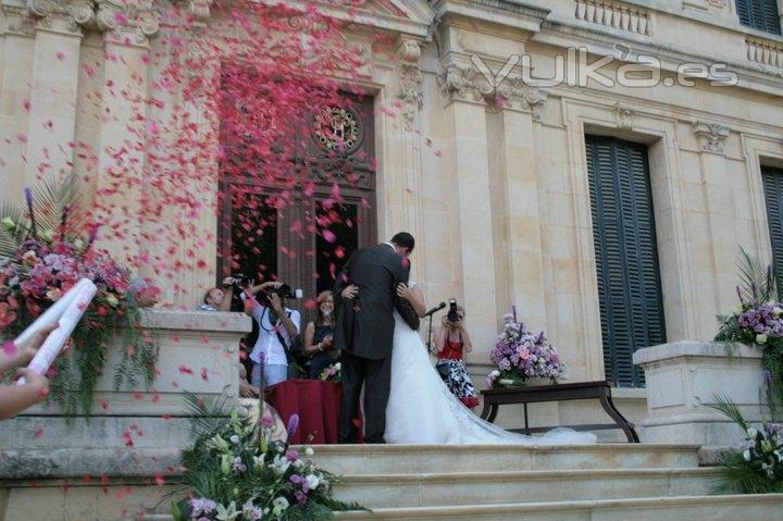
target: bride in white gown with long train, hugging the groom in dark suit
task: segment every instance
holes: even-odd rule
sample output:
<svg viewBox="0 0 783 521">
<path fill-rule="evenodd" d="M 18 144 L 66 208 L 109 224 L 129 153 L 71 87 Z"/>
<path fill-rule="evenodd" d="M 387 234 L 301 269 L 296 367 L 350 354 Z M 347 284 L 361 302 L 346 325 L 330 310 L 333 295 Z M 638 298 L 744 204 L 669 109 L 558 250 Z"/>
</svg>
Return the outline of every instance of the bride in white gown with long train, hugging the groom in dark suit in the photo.
<svg viewBox="0 0 783 521">
<path fill-rule="evenodd" d="M 419 315 L 425 313 L 421 289 L 400 284 L 397 295 L 406 299 Z M 430 362 L 419 332 L 395 311 L 391 349 L 391 390 L 386 406 L 386 432 L 389 444 L 592 444 L 591 433 L 556 429 L 542 437 L 505 431 L 476 417 L 448 389 Z"/>
</svg>

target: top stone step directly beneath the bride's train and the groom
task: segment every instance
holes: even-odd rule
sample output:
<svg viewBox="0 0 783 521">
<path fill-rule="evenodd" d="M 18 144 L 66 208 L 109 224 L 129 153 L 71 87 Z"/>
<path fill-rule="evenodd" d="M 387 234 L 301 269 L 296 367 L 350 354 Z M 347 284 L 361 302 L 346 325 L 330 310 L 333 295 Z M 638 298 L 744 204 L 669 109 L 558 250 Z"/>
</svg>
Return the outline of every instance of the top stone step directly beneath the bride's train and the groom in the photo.
<svg viewBox="0 0 783 521">
<path fill-rule="evenodd" d="M 335 474 L 698 467 L 697 445 L 315 445 Z"/>
</svg>

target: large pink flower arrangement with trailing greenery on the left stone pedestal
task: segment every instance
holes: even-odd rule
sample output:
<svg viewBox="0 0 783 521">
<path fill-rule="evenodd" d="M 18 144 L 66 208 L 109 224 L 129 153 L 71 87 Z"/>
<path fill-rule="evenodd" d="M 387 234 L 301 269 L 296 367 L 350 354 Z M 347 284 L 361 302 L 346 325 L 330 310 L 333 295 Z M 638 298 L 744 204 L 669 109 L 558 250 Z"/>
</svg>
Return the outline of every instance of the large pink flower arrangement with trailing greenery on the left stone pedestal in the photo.
<svg viewBox="0 0 783 521">
<path fill-rule="evenodd" d="M 73 181 L 47 183 L 35 195 L 25 189 L 25 211 L 0 209 L 0 336 L 18 334 L 82 277 L 98 288 L 72 335 L 72 356 L 58 359 L 48 374 L 50 397 L 70 415 L 79 409 L 90 413 L 107 349 L 117 334 L 125 351 L 115 368 L 116 388 L 140 376 L 149 387 L 158 358 L 127 301 L 128 270 L 94 246 L 95 228 L 85 236 L 89 226 L 74 200 Z"/>
</svg>

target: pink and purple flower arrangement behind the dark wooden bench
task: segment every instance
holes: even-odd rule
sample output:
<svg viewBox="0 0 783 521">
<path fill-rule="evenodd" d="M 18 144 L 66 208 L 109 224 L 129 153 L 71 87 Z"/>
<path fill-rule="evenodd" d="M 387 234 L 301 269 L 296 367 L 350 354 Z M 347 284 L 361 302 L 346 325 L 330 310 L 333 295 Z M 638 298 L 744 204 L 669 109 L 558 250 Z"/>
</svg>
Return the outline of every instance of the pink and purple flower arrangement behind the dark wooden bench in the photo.
<svg viewBox="0 0 783 521">
<path fill-rule="evenodd" d="M 531 333 L 515 313 L 504 315 L 504 330 L 498 336 L 489 360 L 498 369 L 486 379 L 487 388 L 496 385 L 524 385 L 527 379 L 557 379 L 566 371 L 557 350 L 549 344 L 544 332 Z"/>
</svg>

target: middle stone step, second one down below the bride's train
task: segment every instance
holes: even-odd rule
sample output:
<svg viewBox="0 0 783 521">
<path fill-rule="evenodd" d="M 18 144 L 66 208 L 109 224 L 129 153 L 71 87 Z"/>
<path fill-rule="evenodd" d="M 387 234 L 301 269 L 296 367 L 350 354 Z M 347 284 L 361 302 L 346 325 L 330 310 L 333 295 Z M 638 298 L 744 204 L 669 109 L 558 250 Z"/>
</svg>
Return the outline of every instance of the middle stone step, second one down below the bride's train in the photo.
<svg viewBox="0 0 783 521">
<path fill-rule="evenodd" d="M 695 468 L 356 474 L 343 476 L 335 494 L 368 508 L 700 496 L 712 492 L 719 472 Z"/>
</svg>

